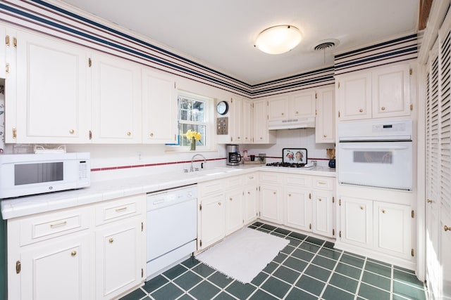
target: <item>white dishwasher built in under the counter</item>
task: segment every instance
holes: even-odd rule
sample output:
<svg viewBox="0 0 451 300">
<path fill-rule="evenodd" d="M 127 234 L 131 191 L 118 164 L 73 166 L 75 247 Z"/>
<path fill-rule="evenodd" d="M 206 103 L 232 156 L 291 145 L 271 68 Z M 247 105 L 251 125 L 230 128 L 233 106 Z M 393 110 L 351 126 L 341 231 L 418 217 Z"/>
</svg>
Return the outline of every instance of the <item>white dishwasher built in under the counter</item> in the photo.
<svg viewBox="0 0 451 300">
<path fill-rule="evenodd" d="M 147 194 L 147 279 L 197 247 L 197 185 Z"/>
</svg>

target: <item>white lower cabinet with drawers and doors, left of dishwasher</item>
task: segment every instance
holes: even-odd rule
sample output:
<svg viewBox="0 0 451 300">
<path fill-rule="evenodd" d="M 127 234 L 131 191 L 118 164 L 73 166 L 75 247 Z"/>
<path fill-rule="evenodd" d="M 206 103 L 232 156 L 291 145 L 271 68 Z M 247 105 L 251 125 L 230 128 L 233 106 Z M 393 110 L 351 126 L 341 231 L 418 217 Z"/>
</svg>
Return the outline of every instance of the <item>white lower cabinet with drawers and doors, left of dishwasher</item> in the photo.
<svg viewBox="0 0 451 300">
<path fill-rule="evenodd" d="M 8 299 L 112 299 L 144 282 L 145 195 L 8 219 Z"/>
</svg>

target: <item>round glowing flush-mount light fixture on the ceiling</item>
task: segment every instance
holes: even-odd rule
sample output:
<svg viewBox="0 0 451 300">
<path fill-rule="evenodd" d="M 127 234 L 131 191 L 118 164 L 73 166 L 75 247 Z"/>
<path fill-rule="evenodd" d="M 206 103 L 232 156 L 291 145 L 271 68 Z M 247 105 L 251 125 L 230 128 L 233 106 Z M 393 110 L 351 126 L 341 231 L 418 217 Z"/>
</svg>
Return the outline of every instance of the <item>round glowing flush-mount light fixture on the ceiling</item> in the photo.
<svg viewBox="0 0 451 300">
<path fill-rule="evenodd" d="M 268 54 L 281 54 L 292 50 L 301 41 L 301 32 L 291 25 L 278 25 L 262 31 L 255 40 L 259 50 Z"/>
</svg>

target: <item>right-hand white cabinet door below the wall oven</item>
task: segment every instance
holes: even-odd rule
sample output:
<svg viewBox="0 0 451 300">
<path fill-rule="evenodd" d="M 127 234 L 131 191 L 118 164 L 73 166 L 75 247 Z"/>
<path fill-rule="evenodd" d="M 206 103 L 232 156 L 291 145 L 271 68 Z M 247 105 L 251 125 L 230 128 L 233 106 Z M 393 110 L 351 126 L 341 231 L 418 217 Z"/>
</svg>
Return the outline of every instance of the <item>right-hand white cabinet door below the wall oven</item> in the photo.
<svg viewBox="0 0 451 300">
<path fill-rule="evenodd" d="M 407 205 L 374 202 L 374 246 L 378 251 L 411 259 L 412 209 Z"/>
</svg>

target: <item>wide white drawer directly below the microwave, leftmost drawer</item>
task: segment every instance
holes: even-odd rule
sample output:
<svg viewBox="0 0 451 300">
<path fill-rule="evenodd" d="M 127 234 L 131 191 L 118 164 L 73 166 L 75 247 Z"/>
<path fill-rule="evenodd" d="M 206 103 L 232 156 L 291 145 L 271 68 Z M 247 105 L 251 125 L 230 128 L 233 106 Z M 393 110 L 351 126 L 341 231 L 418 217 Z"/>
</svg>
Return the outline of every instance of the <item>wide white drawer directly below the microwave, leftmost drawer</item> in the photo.
<svg viewBox="0 0 451 300">
<path fill-rule="evenodd" d="M 89 209 L 66 209 L 20 221 L 20 246 L 89 228 Z"/>
</svg>

